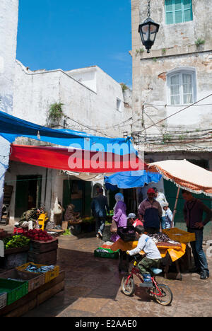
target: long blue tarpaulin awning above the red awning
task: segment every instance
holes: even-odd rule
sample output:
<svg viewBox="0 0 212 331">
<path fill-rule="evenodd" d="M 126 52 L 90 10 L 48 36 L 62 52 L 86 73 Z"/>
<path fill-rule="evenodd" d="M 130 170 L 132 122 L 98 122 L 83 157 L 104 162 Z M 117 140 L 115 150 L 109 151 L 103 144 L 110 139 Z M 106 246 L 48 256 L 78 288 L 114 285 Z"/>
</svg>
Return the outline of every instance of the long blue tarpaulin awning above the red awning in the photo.
<svg viewBox="0 0 212 331">
<path fill-rule="evenodd" d="M 107 138 L 93 136 L 85 132 L 71 129 L 52 129 L 32 122 L 21 120 L 18 117 L 0 111 L 0 136 L 10 143 L 16 137 L 28 137 L 39 141 L 46 141 L 59 146 L 71 146 L 87 151 L 102 151 L 117 153 L 118 155 L 136 154 L 131 144 L 131 138 Z"/>
</svg>

